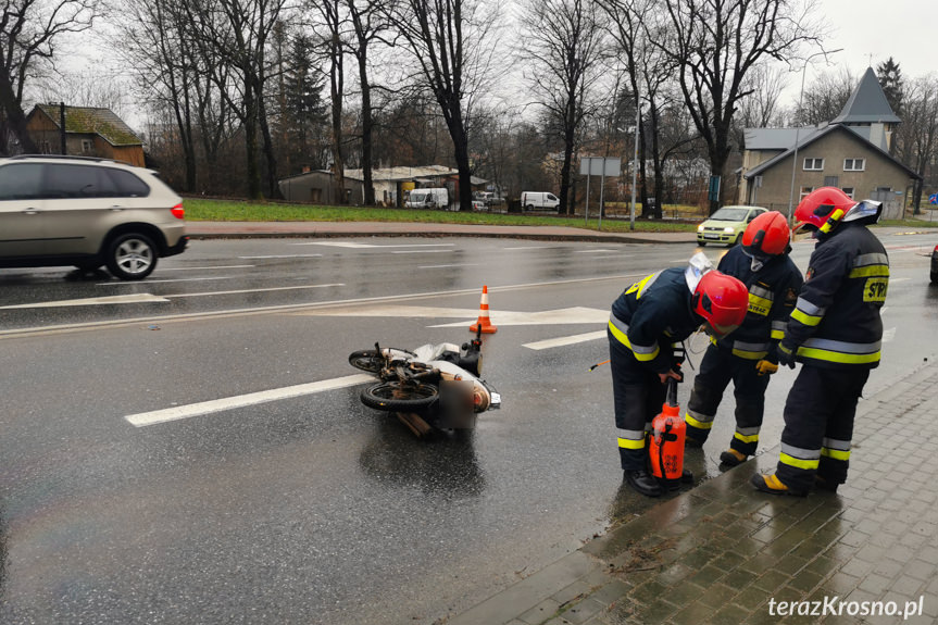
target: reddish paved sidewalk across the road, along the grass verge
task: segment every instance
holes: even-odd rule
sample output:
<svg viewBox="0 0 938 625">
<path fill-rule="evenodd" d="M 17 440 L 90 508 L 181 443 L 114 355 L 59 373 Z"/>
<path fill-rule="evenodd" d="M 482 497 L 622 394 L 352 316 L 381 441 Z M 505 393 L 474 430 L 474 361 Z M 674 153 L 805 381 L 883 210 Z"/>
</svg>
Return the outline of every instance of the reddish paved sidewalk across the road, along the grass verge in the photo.
<svg viewBox="0 0 938 625">
<path fill-rule="evenodd" d="M 490 226 L 412 222 L 187 222 L 191 238 L 225 237 L 509 237 L 623 243 L 693 243 L 697 233 L 604 233 L 560 226 Z"/>
</svg>

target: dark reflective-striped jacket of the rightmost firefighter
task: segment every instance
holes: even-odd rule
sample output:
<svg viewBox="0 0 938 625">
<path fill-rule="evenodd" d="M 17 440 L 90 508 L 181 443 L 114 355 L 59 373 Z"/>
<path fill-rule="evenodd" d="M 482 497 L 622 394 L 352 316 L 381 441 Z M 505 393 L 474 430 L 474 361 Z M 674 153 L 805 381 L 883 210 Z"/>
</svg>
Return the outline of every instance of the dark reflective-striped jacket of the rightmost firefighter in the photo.
<svg viewBox="0 0 938 625">
<path fill-rule="evenodd" d="M 811 254 L 780 349 L 827 368 L 877 366 L 888 286 L 889 258 L 879 239 L 861 224 L 838 224 Z"/>
</svg>

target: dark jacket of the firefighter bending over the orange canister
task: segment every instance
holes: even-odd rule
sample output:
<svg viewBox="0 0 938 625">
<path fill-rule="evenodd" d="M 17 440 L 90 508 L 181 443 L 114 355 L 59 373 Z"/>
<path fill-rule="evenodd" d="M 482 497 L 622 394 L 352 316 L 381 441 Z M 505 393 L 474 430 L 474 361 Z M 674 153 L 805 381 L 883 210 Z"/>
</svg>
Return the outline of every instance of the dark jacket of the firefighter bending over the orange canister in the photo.
<svg viewBox="0 0 938 625">
<path fill-rule="evenodd" d="M 703 323 L 691 309 L 691 292 L 683 267 L 672 267 L 628 287 L 612 303 L 609 332 L 655 373 L 674 365 L 674 342 L 689 337 Z"/>
</svg>

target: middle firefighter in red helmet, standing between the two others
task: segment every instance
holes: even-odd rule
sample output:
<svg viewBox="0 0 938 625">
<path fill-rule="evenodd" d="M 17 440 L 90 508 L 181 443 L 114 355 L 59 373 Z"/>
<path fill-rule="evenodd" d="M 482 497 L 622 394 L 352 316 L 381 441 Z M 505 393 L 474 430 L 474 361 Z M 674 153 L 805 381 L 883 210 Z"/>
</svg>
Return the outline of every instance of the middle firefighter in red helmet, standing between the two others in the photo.
<svg viewBox="0 0 938 625">
<path fill-rule="evenodd" d="M 749 289 L 749 312 L 728 338 L 711 338 L 687 403 L 687 443 L 700 447 L 710 435 L 723 392 L 733 380 L 736 433 L 720 461 L 736 466 L 755 454 L 770 375 L 778 371 L 777 345 L 801 288 L 801 272 L 791 262 L 791 230 L 778 211 L 755 217 L 742 245 L 721 259 L 717 270 Z"/>
</svg>

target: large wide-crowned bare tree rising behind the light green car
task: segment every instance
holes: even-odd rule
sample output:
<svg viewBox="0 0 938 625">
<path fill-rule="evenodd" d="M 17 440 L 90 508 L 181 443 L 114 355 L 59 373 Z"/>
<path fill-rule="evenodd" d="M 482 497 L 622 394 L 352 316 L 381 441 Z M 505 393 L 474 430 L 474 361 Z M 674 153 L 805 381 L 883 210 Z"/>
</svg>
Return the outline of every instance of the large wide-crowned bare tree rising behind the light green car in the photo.
<svg viewBox="0 0 938 625">
<path fill-rule="evenodd" d="M 687 105 L 706 142 L 711 175 L 725 175 L 733 151 L 733 117 L 751 87 L 746 78 L 768 58 L 785 61 L 820 40 L 811 4 L 788 0 L 664 0 L 666 28 L 652 37 L 677 66 Z M 724 195 L 711 200 L 715 211 Z"/>
</svg>

